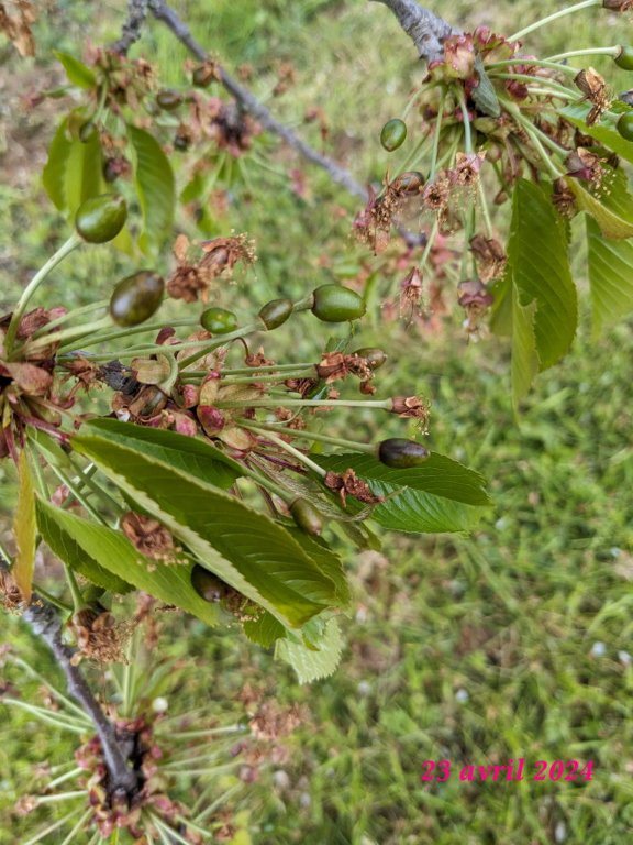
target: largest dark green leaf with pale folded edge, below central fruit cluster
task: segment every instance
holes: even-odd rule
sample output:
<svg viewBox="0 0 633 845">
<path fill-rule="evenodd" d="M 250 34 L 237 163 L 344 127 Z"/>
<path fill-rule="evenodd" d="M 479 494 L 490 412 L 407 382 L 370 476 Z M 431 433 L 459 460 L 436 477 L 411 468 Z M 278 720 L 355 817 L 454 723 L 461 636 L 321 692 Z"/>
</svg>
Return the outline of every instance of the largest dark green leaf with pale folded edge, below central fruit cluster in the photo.
<svg viewBox="0 0 633 845">
<path fill-rule="evenodd" d="M 185 438 L 188 442 L 189 438 Z M 334 583 L 284 528 L 234 496 L 137 448 L 80 435 L 87 454 L 142 508 L 156 516 L 199 562 L 289 627 L 335 604 Z"/>
</svg>

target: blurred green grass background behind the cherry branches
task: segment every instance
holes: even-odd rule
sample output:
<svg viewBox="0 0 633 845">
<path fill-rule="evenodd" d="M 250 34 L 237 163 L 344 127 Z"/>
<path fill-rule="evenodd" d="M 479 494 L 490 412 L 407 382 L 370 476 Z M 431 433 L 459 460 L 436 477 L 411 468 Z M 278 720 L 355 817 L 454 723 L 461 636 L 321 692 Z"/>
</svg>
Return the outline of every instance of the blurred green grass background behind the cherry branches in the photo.
<svg viewBox="0 0 633 845">
<path fill-rule="evenodd" d="M 175 6 L 229 69 L 253 65 L 252 87 L 278 117 L 321 146 L 319 128 L 303 117 L 307 109 L 323 109 L 330 124 L 325 152 L 362 183 L 382 177 L 389 162 L 378 144 L 380 127 L 399 113 L 421 76 L 384 7 L 365 0 Z M 124 3 L 100 6 L 98 20 L 89 3 L 52 0 L 48 7 L 37 23 L 35 59 L 18 61 L 0 45 L 3 306 L 64 238 L 64 223 L 37 183 L 63 103 L 24 112 L 20 96 L 59 79 L 52 48 L 80 52 L 87 40 L 113 39 Z M 560 7 L 517 0 L 437 9 L 464 28 L 511 31 Z M 534 33 L 526 48 L 554 53 L 620 43 L 630 25 L 589 10 Z M 182 81 L 186 55 L 167 31 L 153 24 L 134 54 L 156 62 L 167 84 Z M 297 81 L 273 99 L 280 61 L 292 62 Z M 606 61 L 592 64 L 608 70 L 615 90 L 630 87 Z M 332 264 L 355 266 L 360 254 L 348 240 L 356 204 L 275 145 L 269 161 L 282 175 L 246 161 L 247 185 L 235 187 L 226 217 L 218 221 L 223 231 L 246 230 L 257 241 L 256 274 L 226 293 L 227 301 L 237 298 L 244 308 L 336 277 Z M 288 189 L 289 167 L 306 171 L 307 199 Z M 343 209 L 340 216 L 333 207 Z M 84 250 L 57 272 L 49 301 L 58 301 L 60 289 L 70 306 L 101 298 L 124 265 L 107 248 Z M 582 273 L 579 264 L 581 286 Z M 333 678 L 298 688 L 268 654 L 234 632 L 210 634 L 179 623 L 175 636 L 165 635 L 167 649 L 195 657 L 182 691 L 188 701 L 220 711 L 247 679 L 310 706 L 312 723 L 295 737 L 287 777 L 253 787 L 255 843 L 632 841 L 633 336 L 629 321 L 590 343 L 587 322 L 584 312 L 571 353 L 540 376 L 519 421 L 509 399 L 504 343 L 466 345 L 458 315 L 440 334 L 390 327 L 381 391 L 431 398 L 432 448 L 484 472 L 496 507 L 470 537 L 390 535 L 382 555 L 347 556 L 358 603 L 345 624 L 348 648 Z M 363 340 L 384 333 L 369 327 Z M 290 347 L 299 354 L 299 343 L 300 354 L 316 349 L 300 327 L 284 342 L 288 349 L 279 355 Z M 362 416 L 341 425 L 370 437 L 376 422 Z M 397 420 L 389 425 L 380 431 L 401 431 Z M 13 496 L 8 462 L 0 464 L 0 489 L 5 531 Z M 45 651 L 20 623 L 3 623 L 15 648 L 46 667 Z M 23 828 L 10 810 L 29 790 L 32 765 L 64 759 L 71 744 L 1 705 L 0 720 L 0 843 L 13 845 Z M 448 759 L 455 771 L 518 757 L 529 767 L 538 759 L 591 759 L 593 780 L 464 783 L 454 775 L 446 783 L 420 782 L 423 760 Z"/>
</svg>

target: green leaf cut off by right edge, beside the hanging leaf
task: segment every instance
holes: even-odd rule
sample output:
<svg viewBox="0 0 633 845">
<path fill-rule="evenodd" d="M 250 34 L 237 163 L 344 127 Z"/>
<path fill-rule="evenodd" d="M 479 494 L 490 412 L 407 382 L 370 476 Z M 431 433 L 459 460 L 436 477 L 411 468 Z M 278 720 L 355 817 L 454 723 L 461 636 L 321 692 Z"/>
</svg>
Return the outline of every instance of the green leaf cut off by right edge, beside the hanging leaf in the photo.
<svg viewBox="0 0 633 845">
<path fill-rule="evenodd" d="M 633 310 L 633 241 L 607 240 L 587 218 L 593 336 Z"/>
</svg>

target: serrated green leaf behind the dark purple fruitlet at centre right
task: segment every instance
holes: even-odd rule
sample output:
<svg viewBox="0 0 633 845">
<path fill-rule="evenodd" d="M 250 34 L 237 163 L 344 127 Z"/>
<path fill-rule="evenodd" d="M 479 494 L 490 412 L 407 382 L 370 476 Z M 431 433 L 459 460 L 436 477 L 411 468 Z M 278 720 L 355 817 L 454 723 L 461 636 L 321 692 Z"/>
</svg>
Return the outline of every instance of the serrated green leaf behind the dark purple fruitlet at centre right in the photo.
<svg viewBox="0 0 633 845">
<path fill-rule="evenodd" d="M 392 470 L 370 454 L 314 457 L 327 470 L 351 468 L 376 495 L 388 497 L 371 513 L 385 528 L 414 534 L 464 531 L 476 525 L 491 502 L 478 472 L 432 452 L 421 465 Z M 348 500 L 352 507 L 352 500 Z"/>
</svg>

